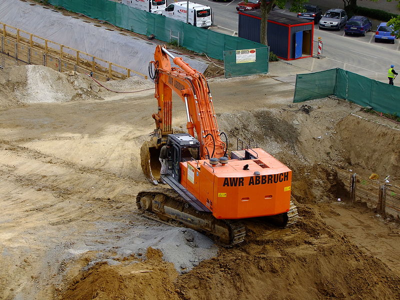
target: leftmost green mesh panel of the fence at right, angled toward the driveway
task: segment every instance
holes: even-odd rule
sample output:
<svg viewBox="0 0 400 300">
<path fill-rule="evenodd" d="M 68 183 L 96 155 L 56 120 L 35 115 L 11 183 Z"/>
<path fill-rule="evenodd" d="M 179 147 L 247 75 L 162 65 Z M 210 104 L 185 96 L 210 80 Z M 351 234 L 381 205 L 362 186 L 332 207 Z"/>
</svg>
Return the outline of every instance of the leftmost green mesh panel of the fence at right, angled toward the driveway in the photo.
<svg viewBox="0 0 400 300">
<path fill-rule="evenodd" d="M 323 98 L 334 94 L 336 69 L 297 74 L 293 102 Z"/>
</svg>

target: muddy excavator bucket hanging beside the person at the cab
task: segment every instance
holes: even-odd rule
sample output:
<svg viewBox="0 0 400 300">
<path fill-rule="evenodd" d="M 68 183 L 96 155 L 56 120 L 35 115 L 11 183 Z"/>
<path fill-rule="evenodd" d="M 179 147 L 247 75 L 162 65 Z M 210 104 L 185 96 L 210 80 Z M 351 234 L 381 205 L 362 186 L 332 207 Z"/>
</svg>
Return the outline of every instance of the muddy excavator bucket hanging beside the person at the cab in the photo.
<svg viewBox="0 0 400 300">
<path fill-rule="evenodd" d="M 154 184 L 158 184 L 160 178 L 161 163 L 158 160 L 161 150 L 156 139 L 145 141 L 140 148 L 140 164 L 144 175 Z"/>
</svg>

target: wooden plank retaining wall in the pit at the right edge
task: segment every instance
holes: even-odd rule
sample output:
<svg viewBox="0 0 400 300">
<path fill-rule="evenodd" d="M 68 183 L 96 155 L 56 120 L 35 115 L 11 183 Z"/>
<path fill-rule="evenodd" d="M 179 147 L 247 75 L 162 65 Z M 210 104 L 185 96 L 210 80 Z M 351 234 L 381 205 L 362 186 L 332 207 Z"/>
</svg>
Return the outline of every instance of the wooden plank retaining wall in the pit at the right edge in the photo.
<svg viewBox="0 0 400 300">
<path fill-rule="evenodd" d="M 400 187 L 380 179 L 363 178 L 348 170 L 336 168 L 337 178 L 354 202 L 362 202 L 377 213 L 400 220 Z"/>
</svg>

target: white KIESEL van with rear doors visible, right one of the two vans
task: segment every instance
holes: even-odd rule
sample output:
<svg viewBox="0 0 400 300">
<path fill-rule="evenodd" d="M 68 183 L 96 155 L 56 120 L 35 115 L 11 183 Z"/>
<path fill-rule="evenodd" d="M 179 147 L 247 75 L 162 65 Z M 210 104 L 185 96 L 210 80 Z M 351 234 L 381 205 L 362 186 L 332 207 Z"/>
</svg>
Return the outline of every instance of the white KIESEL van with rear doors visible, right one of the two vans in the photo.
<svg viewBox="0 0 400 300">
<path fill-rule="evenodd" d="M 212 26 L 211 7 L 187 1 L 174 2 L 169 4 L 162 15 L 186 22 L 187 7 L 189 8 L 188 23 L 196 27 L 208 28 Z"/>
</svg>

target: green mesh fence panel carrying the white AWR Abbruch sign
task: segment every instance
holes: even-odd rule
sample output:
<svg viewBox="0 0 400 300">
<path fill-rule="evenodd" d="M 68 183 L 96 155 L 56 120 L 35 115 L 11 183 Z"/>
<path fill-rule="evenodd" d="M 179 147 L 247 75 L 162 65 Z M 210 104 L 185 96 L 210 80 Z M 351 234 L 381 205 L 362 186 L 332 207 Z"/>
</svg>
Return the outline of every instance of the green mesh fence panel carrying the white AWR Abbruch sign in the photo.
<svg viewBox="0 0 400 300">
<path fill-rule="evenodd" d="M 268 72 L 269 47 L 223 51 L 225 78 Z"/>
</svg>

